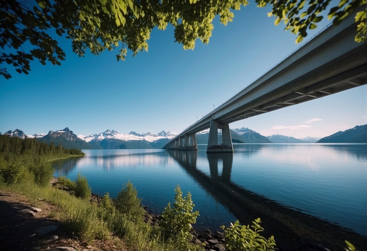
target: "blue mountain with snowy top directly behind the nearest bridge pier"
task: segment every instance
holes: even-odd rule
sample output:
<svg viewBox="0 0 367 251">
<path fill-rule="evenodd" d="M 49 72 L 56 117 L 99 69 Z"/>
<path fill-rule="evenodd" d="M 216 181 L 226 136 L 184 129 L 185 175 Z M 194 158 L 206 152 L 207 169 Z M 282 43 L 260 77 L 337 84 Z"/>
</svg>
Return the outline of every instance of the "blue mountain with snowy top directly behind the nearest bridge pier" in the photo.
<svg viewBox="0 0 367 251">
<path fill-rule="evenodd" d="M 258 132 L 252 131 L 245 127 L 230 129 L 230 135 L 233 143 L 272 143 L 265 136 L 262 136 Z M 208 138 L 209 129 L 196 134 L 196 142 L 198 144 L 207 144 Z"/>
</svg>

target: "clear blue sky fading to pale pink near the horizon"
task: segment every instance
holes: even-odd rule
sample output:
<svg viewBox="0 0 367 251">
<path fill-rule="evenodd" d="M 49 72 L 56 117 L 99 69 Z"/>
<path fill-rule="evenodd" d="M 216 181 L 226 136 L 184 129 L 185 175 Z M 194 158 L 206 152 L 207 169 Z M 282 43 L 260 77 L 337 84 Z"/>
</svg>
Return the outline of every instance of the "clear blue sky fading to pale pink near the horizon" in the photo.
<svg viewBox="0 0 367 251">
<path fill-rule="evenodd" d="M 209 44 L 197 40 L 194 50 L 174 42 L 172 27 L 155 29 L 149 52 L 135 57 L 129 52 L 124 62 L 116 61 L 117 50 L 79 58 L 69 41 L 60 40 L 66 52 L 61 66 L 32 62 L 29 75 L 14 71 L 10 80 L 1 77 L 0 131 L 181 132 L 299 46 L 296 36 L 284 31 L 283 23 L 275 26 L 267 12 L 251 2 L 235 11 L 227 26 L 217 17 Z M 325 18 L 306 40 L 329 22 Z M 367 86 L 356 87 L 237 121 L 230 128 L 327 136 L 367 123 L 366 93 Z"/>
</svg>

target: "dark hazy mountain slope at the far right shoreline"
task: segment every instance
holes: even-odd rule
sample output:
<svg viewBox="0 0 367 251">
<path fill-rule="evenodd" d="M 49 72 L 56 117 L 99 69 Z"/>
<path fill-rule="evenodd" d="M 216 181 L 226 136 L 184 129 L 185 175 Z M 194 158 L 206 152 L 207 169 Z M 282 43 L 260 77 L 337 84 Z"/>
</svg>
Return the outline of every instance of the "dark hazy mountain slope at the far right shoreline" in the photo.
<svg viewBox="0 0 367 251">
<path fill-rule="evenodd" d="M 344 132 L 335 132 L 330 136 L 320 139 L 316 143 L 367 143 L 367 124 L 356 126 Z"/>
</svg>

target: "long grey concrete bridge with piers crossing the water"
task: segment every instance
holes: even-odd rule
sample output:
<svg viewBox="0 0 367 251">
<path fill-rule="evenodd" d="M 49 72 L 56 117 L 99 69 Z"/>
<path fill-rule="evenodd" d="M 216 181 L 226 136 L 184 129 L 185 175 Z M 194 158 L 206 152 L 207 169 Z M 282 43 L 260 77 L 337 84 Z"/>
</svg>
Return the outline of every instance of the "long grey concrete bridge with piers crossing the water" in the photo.
<svg viewBox="0 0 367 251">
<path fill-rule="evenodd" d="M 207 152 L 233 152 L 229 123 L 365 85 L 367 43 L 354 41 L 356 29 L 354 15 L 327 26 L 163 149 L 197 150 L 196 132 L 210 128 Z"/>
</svg>

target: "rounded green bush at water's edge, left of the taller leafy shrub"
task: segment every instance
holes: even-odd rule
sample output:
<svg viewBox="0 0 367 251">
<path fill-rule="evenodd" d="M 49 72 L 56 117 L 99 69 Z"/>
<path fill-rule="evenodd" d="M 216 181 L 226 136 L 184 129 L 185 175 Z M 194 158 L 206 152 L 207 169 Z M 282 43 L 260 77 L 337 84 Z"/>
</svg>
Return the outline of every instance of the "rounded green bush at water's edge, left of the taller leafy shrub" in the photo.
<svg viewBox="0 0 367 251">
<path fill-rule="evenodd" d="M 140 205 L 141 199 L 137 197 L 138 191 L 134 188 L 130 180 L 126 186 L 117 194 L 115 206 L 120 213 L 125 214 L 129 219 L 141 221 L 145 210 Z"/>
</svg>

